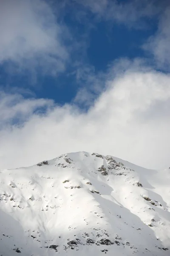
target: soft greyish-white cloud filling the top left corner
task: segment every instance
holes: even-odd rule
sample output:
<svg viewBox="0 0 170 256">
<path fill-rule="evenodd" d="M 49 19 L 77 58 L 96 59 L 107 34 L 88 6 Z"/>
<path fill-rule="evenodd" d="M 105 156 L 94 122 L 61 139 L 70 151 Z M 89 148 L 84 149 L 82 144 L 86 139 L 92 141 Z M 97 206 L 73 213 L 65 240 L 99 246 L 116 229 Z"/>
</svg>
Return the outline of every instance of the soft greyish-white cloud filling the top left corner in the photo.
<svg viewBox="0 0 170 256">
<path fill-rule="evenodd" d="M 65 69 L 65 30 L 44 0 L 0 1 L 0 64 L 12 61 L 20 69 L 56 74 Z"/>
</svg>

